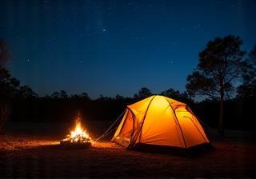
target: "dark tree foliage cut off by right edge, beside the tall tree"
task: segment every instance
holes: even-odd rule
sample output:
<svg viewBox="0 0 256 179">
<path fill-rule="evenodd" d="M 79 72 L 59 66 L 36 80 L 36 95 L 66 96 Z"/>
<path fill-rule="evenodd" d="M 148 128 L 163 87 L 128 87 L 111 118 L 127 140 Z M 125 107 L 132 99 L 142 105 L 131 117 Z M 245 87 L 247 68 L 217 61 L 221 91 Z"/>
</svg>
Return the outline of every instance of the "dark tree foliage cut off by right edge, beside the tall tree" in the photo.
<svg viewBox="0 0 256 179">
<path fill-rule="evenodd" d="M 238 87 L 238 97 L 256 96 L 256 45 L 250 51 L 243 66 L 243 83 Z"/>
</svg>

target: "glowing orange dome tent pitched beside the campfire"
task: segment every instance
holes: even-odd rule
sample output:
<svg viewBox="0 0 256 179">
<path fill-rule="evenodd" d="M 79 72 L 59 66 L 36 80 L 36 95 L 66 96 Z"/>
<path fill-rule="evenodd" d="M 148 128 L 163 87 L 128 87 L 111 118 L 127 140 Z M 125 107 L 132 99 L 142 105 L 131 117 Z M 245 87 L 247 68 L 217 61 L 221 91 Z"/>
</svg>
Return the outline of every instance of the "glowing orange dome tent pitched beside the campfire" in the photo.
<svg viewBox="0 0 256 179">
<path fill-rule="evenodd" d="M 130 148 L 146 144 L 186 149 L 209 143 L 186 104 L 158 95 L 128 105 L 112 141 Z"/>
</svg>

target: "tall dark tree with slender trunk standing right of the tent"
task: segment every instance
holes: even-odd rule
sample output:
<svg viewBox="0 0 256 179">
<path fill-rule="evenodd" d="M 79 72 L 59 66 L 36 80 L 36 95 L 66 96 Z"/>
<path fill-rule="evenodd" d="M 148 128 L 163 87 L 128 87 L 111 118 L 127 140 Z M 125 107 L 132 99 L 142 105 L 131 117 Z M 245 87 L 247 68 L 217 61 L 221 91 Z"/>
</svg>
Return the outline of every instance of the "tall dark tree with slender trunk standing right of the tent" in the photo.
<svg viewBox="0 0 256 179">
<path fill-rule="evenodd" d="M 242 58 L 246 52 L 241 50 L 241 46 L 242 39 L 233 35 L 208 42 L 206 49 L 199 53 L 198 66 L 187 77 L 186 89 L 191 95 L 210 97 L 220 102 L 220 134 L 224 134 L 224 100 L 232 95 L 234 86 L 242 77 Z"/>
</svg>

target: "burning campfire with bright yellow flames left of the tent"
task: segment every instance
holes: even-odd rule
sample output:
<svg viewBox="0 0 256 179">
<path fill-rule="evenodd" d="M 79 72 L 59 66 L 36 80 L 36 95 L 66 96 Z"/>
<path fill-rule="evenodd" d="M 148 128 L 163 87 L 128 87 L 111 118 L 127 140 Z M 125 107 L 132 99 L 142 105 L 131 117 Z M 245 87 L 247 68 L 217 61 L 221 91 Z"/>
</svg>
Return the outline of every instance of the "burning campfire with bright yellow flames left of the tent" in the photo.
<svg viewBox="0 0 256 179">
<path fill-rule="evenodd" d="M 60 141 L 61 145 L 65 146 L 81 146 L 88 147 L 92 143 L 92 139 L 82 126 L 82 117 L 78 115 L 75 120 L 75 127 L 70 131 L 70 134 L 65 139 Z"/>
</svg>

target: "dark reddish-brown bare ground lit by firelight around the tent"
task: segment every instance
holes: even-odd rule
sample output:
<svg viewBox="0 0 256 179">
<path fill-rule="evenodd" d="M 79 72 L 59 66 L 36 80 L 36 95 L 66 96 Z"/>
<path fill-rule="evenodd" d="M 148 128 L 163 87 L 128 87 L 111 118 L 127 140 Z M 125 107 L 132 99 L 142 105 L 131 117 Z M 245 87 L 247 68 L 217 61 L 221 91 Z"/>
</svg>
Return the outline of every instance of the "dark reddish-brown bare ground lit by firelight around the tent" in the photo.
<svg viewBox="0 0 256 179">
<path fill-rule="evenodd" d="M 0 135 L 1 177 L 256 177 L 252 133 L 230 131 L 228 141 L 212 142 L 214 151 L 185 157 L 126 150 L 109 138 L 89 149 L 63 149 L 66 125 L 58 126 L 9 124 Z"/>
</svg>

